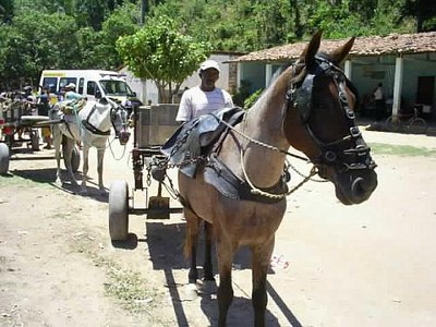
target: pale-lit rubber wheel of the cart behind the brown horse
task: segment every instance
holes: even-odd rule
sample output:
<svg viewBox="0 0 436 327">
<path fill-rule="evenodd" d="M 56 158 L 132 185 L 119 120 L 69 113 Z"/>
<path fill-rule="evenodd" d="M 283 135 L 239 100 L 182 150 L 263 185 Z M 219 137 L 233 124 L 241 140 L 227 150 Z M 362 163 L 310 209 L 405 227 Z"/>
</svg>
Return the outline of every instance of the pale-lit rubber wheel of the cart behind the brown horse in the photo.
<svg viewBox="0 0 436 327">
<path fill-rule="evenodd" d="M 109 234 L 112 241 L 125 241 L 129 234 L 129 187 L 114 181 L 109 190 Z"/>
</svg>

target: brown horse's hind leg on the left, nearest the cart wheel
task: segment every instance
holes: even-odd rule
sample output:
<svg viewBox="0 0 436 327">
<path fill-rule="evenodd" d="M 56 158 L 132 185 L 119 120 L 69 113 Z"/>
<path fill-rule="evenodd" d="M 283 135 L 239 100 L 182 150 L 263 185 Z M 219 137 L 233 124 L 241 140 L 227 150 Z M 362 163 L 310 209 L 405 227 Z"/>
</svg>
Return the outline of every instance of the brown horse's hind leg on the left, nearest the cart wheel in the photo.
<svg viewBox="0 0 436 327">
<path fill-rule="evenodd" d="M 190 283 L 195 284 L 198 279 L 197 269 L 197 244 L 198 244 L 198 230 L 199 218 L 191 210 L 184 209 L 184 218 L 186 219 L 186 237 L 184 242 L 184 255 L 191 259 L 190 271 L 187 279 Z"/>
</svg>

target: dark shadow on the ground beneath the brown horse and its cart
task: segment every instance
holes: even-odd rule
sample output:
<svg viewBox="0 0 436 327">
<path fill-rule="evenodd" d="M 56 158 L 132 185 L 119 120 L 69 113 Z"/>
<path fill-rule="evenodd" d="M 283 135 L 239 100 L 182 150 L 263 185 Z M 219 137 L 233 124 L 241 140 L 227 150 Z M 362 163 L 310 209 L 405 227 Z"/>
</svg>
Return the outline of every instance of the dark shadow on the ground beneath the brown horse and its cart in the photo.
<svg viewBox="0 0 436 327">
<path fill-rule="evenodd" d="M 158 220 L 147 220 L 146 225 L 146 239 L 148 245 L 148 252 L 153 268 L 156 270 L 162 270 L 166 276 L 166 282 L 168 286 L 169 293 L 171 295 L 172 305 L 178 319 L 178 326 L 189 326 L 189 322 L 183 307 L 183 295 L 181 294 L 181 288 L 177 284 L 173 271 L 177 269 L 184 269 L 186 272 L 187 282 L 187 268 L 189 264 L 183 256 L 183 244 L 185 235 L 185 223 L 166 223 Z M 130 241 L 125 242 L 125 246 L 129 243 L 141 242 L 137 238 L 130 235 Z M 132 245 L 130 245 L 132 246 Z M 133 247 L 133 246 L 132 246 Z M 201 235 L 197 254 L 197 265 L 202 266 L 204 257 L 204 235 Z M 215 250 L 213 254 L 213 265 L 216 279 L 217 276 L 217 259 Z M 251 268 L 251 254 L 249 249 L 242 247 L 234 256 L 233 271 L 250 269 Z M 203 278 L 203 269 L 199 267 L 199 278 Z M 238 274 L 238 272 L 233 272 Z M 274 274 L 271 270 L 270 274 Z M 233 288 L 237 289 L 238 284 L 233 283 Z M 291 310 L 281 300 L 279 293 L 274 287 L 267 282 L 267 291 L 271 299 L 276 302 L 277 306 L 283 313 L 286 318 L 289 320 L 291 326 L 301 326 L 299 320 L 294 317 Z M 203 283 L 203 288 L 199 289 L 201 307 L 205 316 L 208 318 L 210 326 L 218 325 L 218 302 L 217 302 L 217 286 L 215 282 Z M 253 307 L 251 301 L 251 294 L 246 296 L 234 296 L 233 302 L 228 313 L 228 326 L 252 326 L 253 325 Z M 268 310 L 266 312 L 266 325 L 267 326 L 280 326 L 277 317 Z"/>
</svg>

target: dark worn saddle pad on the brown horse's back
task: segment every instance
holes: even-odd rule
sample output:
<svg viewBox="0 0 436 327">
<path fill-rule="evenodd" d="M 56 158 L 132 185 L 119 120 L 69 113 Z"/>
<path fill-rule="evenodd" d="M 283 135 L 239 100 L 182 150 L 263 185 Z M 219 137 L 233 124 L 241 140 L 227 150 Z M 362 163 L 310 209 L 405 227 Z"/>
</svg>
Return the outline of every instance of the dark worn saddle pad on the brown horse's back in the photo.
<svg viewBox="0 0 436 327">
<path fill-rule="evenodd" d="M 195 178 L 201 164 L 213 152 L 220 135 L 235 125 L 244 114 L 242 108 L 225 108 L 218 112 L 201 116 L 181 125 L 162 145 L 160 152 L 179 170 L 190 178 Z"/>
</svg>

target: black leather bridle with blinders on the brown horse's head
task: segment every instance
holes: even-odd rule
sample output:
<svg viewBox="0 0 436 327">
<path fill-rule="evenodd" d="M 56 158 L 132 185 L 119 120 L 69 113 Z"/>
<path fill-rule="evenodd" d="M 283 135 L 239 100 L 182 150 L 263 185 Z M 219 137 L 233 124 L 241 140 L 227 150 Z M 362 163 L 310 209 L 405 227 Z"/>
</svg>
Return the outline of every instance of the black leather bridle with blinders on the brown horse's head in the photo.
<svg viewBox="0 0 436 327">
<path fill-rule="evenodd" d="M 303 77 L 304 80 L 294 81 L 288 89 L 288 104 L 284 110 L 288 111 L 296 107 L 302 124 L 318 146 L 320 155 L 318 158 L 312 159 L 312 161 L 318 165 L 342 166 L 344 170 L 374 169 L 376 165 L 371 158 L 371 149 L 364 142 L 359 128 L 355 125 L 354 112 L 350 109 L 348 104 L 346 85 L 351 86 L 351 82 L 338 66 L 324 57 L 316 56 L 315 63 L 305 69 L 306 74 Z M 330 143 L 325 143 L 319 140 L 319 137 L 313 133 L 308 124 L 308 119 L 313 109 L 312 97 L 314 81 L 320 74 L 331 76 L 337 85 L 339 101 L 349 123 L 349 134 Z M 354 87 L 351 87 L 351 89 L 355 90 Z M 319 173 L 322 174 L 322 171 L 319 171 Z"/>
</svg>

